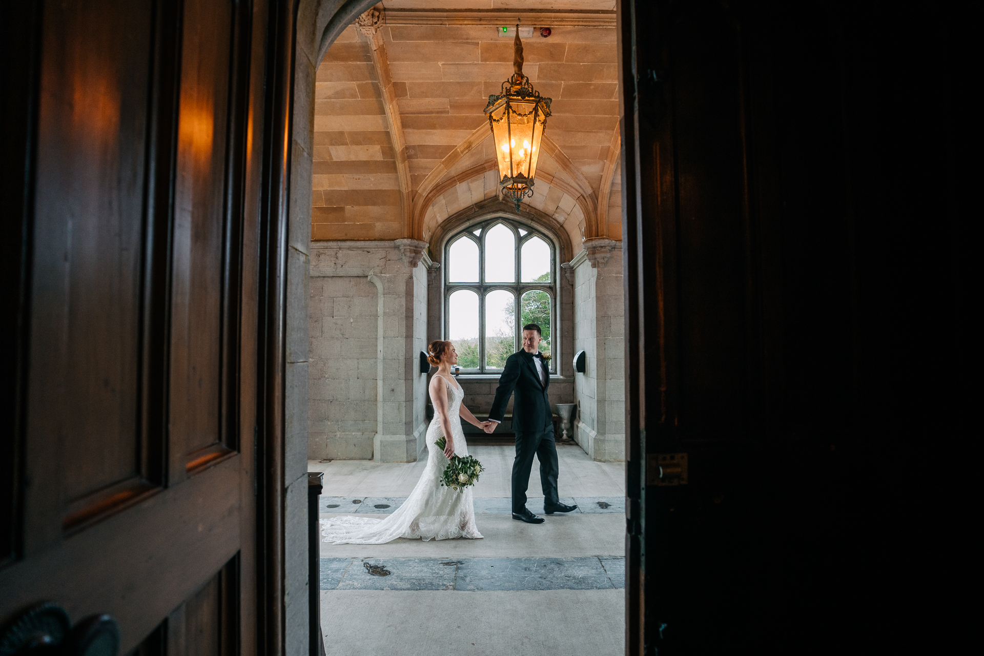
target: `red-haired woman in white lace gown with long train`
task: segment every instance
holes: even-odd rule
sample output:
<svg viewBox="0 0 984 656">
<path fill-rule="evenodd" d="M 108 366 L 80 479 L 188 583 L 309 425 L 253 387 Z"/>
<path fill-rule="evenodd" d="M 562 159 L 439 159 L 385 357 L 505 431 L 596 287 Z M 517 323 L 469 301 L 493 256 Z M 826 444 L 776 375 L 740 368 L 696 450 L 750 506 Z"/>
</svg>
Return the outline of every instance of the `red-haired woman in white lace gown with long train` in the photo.
<svg viewBox="0 0 984 656">
<path fill-rule="evenodd" d="M 449 458 L 468 454 L 461 431 L 459 413 L 473 426 L 484 429 L 488 422 L 479 422 L 461 405 L 464 391 L 451 375 L 458 364 L 458 353 L 450 341 L 432 341 L 427 347 L 427 360 L 438 368 L 430 383 L 434 419 L 427 429 L 427 466 L 413 492 L 397 510 L 383 519 L 375 517 L 335 517 L 322 519 L 325 542 L 335 544 L 383 544 L 397 538 L 447 540 L 449 538 L 480 538 L 475 526 L 471 487 L 461 492 L 441 486 L 441 474 Z M 442 451 L 434 443 L 445 437 Z"/>
</svg>

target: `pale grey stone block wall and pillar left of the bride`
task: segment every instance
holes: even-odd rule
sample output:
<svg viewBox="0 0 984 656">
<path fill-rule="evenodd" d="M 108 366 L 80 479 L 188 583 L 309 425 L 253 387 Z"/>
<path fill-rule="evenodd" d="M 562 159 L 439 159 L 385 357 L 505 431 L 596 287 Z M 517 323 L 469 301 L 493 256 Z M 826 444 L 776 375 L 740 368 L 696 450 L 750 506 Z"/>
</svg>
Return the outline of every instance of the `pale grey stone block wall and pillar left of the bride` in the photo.
<svg viewBox="0 0 984 656">
<path fill-rule="evenodd" d="M 412 462 L 420 452 L 427 278 L 418 263 L 397 242 L 312 244 L 308 457 Z"/>
</svg>

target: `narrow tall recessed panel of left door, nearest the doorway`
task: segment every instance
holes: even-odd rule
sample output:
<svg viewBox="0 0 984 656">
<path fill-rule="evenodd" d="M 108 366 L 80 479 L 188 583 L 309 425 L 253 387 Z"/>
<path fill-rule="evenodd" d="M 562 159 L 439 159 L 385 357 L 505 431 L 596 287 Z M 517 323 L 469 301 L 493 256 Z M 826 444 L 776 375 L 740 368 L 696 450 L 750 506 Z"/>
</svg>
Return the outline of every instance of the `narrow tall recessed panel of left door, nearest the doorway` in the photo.
<svg viewBox="0 0 984 656">
<path fill-rule="evenodd" d="M 171 475 L 220 442 L 222 233 L 232 5 L 186 0 L 174 194 Z M 195 454 L 195 455 L 193 455 Z"/>
</svg>

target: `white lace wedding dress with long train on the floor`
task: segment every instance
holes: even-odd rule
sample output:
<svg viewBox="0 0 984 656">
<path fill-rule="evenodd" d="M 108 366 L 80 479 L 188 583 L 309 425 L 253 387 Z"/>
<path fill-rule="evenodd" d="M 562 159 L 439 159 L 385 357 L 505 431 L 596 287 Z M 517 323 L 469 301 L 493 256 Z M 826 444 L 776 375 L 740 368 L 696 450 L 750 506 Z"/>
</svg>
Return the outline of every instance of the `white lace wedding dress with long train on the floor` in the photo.
<svg viewBox="0 0 984 656">
<path fill-rule="evenodd" d="M 464 390 L 452 386 L 443 376 L 440 378 L 451 393 L 448 418 L 454 434 L 455 454 L 465 456 L 468 445 L 464 442 L 458 416 Z M 435 412 L 427 428 L 427 466 L 402 506 L 383 519 L 364 515 L 322 519 L 324 542 L 378 545 L 397 538 L 448 540 L 482 537 L 475 526 L 471 487 L 455 492 L 441 485 L 441 474 L 448 464 L 448 458 L 434 443 L 443 435 L 441 417 Z"/>
</svg>

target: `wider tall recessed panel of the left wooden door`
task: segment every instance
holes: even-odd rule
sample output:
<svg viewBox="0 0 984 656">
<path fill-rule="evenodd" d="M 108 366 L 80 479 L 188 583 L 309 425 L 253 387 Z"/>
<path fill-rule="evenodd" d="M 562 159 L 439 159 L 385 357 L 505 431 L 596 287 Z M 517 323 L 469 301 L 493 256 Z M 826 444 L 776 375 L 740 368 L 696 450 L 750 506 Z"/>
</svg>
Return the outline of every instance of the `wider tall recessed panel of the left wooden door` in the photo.
<svg viewBox="0 0 984 656">
<path fill-rule="evenodd" d="M 123 0 L 62 11 L 49 5 L 44 17 L 27 426 L 29 448 L 39 446 L 34 436 L 57 436 L 29 458 L 55 465 L 60 491 L 28 489 L 38 530 L 26 538 L 36 548 L 57 539 L 63 521 L 71 528 L 143 487 L 139 274 L 153 16 Z"/>
</svg>

